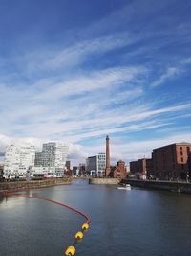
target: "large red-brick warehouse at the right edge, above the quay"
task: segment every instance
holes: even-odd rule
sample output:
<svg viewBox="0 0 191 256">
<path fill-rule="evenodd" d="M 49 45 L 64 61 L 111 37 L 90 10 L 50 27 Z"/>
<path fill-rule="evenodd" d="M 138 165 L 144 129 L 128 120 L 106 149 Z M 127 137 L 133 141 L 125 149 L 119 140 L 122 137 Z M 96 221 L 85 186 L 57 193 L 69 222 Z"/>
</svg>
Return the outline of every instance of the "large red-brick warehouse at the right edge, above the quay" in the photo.
<svg viewBox="0 0 191 256">
<path fill-rule="evenodd" d="M 159 179 L 186 180 L 191 177 L 191 143 L 174 143 L 152 153 L 154 175 Z"/>
</svg>

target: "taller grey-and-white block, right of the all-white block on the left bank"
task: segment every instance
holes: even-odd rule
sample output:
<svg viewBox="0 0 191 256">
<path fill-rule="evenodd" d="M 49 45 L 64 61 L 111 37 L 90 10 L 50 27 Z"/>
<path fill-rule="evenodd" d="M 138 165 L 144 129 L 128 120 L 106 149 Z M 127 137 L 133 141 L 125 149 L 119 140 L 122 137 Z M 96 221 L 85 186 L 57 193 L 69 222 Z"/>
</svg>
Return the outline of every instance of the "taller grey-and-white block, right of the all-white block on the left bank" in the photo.
<svg viewBox="0 0 191 256">
<path fill-rule="evenodd" d="M 35 153 L 35 174 L 63 176 L 69 146 L 62 143 L 44 143 L 41 152 Z"/>
</svg>

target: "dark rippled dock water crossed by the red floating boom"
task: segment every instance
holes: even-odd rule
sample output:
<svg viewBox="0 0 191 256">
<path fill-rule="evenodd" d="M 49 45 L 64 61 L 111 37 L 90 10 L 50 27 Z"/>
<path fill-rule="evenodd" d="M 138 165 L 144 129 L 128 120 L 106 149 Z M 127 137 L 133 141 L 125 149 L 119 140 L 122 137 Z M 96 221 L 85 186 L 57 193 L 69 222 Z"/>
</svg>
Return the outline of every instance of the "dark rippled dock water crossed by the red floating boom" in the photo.
<svg viewBox="0 0 191 256">
<path fill-rule="evenodd" d="M 191 255 L 190 195 L 82 180 L 23 194 L 64 202 L 90 217 L 90 229 L 76 245 L 78 256 Z M 0 255 L 64 255 L 84 221 L 50 202 L 0 196 Z"/>
</svg>

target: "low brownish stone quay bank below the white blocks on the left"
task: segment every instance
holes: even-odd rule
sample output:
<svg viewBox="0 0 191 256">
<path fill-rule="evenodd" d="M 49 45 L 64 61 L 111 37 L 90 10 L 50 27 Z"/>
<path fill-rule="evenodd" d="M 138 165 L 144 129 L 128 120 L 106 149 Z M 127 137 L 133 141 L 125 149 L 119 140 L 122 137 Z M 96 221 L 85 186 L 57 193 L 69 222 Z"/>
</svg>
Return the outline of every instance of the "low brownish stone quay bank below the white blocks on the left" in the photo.
<svg viewBox="0 0 191 256">
<path fill-rule="evenodd" d="M 43 180 L 32 181 L 14 181 L 14 182 L 1 182 L 0 192 L 15 189 L 36 189 L 45 188 L 55 185 L 69 185 L 73 181 L 72 177 L 60 177 L 60 178 L 47 178 Z"/>
</svg>

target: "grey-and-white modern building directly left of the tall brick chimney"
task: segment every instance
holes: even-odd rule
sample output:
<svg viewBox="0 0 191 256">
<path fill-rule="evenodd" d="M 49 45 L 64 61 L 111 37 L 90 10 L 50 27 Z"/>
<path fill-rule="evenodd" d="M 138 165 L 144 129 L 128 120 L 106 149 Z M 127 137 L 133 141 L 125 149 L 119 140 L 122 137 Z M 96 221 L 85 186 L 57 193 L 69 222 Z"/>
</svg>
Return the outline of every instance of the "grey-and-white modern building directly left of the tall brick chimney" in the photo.
<svg viewBox="0 0 191 256">
<path fill-rule="evenodd" d="M 106 168 L 106 155 L 100 152 L 95 156 L 90 156 L 86 159 L 86 171 L 90 175 L 104 176 Z"/>
</svg>

